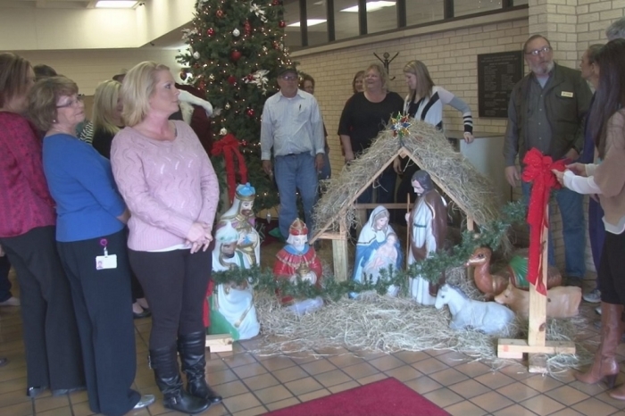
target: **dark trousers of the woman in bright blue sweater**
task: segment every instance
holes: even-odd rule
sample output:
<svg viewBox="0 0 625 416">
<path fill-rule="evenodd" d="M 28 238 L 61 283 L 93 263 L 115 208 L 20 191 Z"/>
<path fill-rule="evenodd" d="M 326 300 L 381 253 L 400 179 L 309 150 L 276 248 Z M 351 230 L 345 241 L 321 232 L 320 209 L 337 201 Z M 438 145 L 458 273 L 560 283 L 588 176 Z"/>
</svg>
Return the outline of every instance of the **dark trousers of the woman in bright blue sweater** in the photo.
<svg viewBox="0 0 625 416">
<path fill-rule="evenodd" d="M 106 239 L 117 268 L 96 270 L 96 256 Z M 130 387 L 137 371 L 135 328 L 130 297 L 130 266 L 123 231 L 71 243 L 58 243 L 82 344 L 89 407 L 107 416 L 121 416 L 139 401 Z"/>
</svg>

